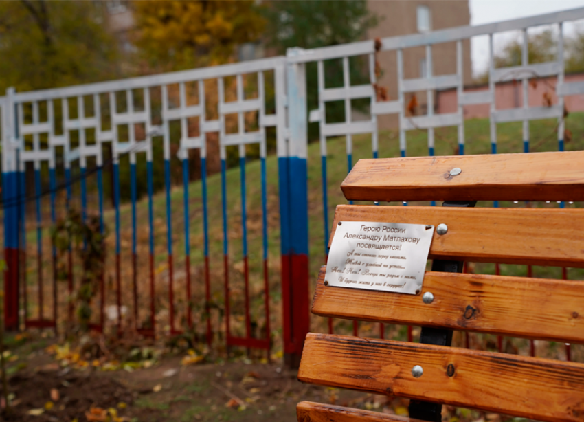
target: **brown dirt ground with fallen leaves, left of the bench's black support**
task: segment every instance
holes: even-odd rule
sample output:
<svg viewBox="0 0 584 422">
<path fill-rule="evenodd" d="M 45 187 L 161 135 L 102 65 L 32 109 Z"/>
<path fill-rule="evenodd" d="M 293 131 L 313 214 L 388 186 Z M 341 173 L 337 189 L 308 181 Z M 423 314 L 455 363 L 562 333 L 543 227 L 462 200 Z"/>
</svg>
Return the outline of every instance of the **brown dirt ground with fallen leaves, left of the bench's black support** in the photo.
<svg viewBox="0 0 584 422">
<path fill-rule="evenodd" d="M 407 413 L 406 400 L 302 384 L 279 363 L 239 358 L 185 366 L 177 353 L 128 372 L 63 367 L 45 347 L 16 353 L 12 368 L 21 370 L 9 379 L 6 421 L 293 422 L 302 400 Z"/>
</svg>

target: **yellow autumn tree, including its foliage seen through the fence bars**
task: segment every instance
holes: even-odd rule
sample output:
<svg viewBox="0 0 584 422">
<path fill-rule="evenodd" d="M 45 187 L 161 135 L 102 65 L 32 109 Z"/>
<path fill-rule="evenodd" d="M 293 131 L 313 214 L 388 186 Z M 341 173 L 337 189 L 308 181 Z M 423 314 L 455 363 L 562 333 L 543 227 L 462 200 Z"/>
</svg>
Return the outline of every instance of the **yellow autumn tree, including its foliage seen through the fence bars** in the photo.
<svg viewBox="0 0 584 422">
<path fill-rule="evenodd" d="M 237 58 L 237 47 L 258 41 L 265 27 L 265 19 L 260 13 L 262 6 L 251 0 L 133 1 L 132 7 L 136 21 L 135 45 L 148 73 L 153 70 L 177 71 L 234 62 Z M 205 82 L 205 107 L 212 113 L 217 109 L 218 87 L 214 81 L 209 82 L 212 83 Z M 228 96 L 229 92 L 235 91 L 236 81 L 234 78 L 225 78 L 224 82 Z M 171 102 L 179 102 L 177 91 L 169 91 L 168 95 Z M 198 93 L 192 91 L 186 95 L 187 102 L 192 104 L 197 101 Z M 153 100 L 153 107 L 159 107 L 155 102 Z M 229 122 L 226 125 L 229 129 Z M 198 123 L 193 124 L 190 129 L 196 133 L 197 126 Z M 215 134 L 209 134 L 207 140 L 213 140 L 214 137 L 216 138 Z M 176 158 L 179 139 L 180 126 L 171 122 L 171 177 L 173 182 L 181 184 L 181 163 Z M 250 146 L 248 152 L 253 149 Z M 229 163 L 236 162 L 236 151 L 228 150 L 227 153 Z M 164 180 L 164 168 L 161 165 L 161 162 L 155 160 L 155 181 Z M 126 169 L 127 166 L 120 166 L 120 179 L 124 180 L 122 185 L 129 180 L 129 176 L 125 174 Z M 190 169 L 195 174 L 199 173 L 198 158 L 190 159 Z M 146 166 L 138 162 L 137 172 L 138 192 L 142 193 L 146 188 L 142 182 L 146 180 Z"/>
</svg>

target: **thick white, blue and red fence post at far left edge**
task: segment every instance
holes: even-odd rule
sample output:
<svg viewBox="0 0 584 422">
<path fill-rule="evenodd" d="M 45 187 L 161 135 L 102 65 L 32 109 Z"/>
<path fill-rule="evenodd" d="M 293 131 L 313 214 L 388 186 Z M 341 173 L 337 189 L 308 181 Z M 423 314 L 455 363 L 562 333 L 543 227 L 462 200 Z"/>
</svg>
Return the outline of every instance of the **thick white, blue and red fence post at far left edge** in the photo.
<svg viewBox="0 0 584 422">
<path fill-rule="evenodd" d="M 19 329 L 19 173 L 16 165 L 14 88 L 2 104 L 2 201 L 4 208 L 4 325 Z"/>
</svg>

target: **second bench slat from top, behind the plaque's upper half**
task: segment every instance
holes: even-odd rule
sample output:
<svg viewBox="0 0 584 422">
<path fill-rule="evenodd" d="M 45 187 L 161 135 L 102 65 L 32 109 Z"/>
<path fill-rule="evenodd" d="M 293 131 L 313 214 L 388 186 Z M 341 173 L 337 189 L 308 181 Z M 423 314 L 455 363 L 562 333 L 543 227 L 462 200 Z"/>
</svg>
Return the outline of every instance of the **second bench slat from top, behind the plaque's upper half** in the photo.
<svg viewBox="0 0 584 422">
<path fill-rule="evenodd" d="M 582 209 L 337 206 L 329 247 L 339 221 L 445 223 L 431 259 L 584 267 Z"/>
</svg>

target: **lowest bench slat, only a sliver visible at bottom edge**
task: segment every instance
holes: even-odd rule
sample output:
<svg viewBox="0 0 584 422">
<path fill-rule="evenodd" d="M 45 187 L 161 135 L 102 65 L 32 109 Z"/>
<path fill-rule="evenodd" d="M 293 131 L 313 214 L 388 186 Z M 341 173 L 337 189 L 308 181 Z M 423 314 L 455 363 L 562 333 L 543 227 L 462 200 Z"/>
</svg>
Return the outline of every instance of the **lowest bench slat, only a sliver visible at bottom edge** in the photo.
<svg viewBox="0 0 584 422">
<path fill-rule="evenodd" d="M 409 419 L 370 410 L 345 408 L 332 404 L 301 401 L 296 406 L 298 422 L 418 422 L 419 419 Z"/>
</svg>

